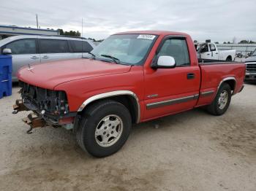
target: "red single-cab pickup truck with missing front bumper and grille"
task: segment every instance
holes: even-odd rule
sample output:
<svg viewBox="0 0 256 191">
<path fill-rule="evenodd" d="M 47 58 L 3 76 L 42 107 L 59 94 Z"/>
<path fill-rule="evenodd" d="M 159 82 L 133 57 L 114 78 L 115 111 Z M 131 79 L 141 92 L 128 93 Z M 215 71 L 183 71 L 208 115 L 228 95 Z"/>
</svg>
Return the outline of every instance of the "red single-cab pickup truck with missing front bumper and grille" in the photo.
<svg viewBox="0 0 256 191">
<path fill-rule="evenodd" d="M 114 34 L 86 58 L 28 66 L 18 71 L 15 112 L 31 128 L 72 129 L 96 157 L 117 152 L 132 123 L 206 106 L 224 114 L 244 87 L 245 65 L 198 61 L 188 34 L 133 31 Z"/>
</svg>

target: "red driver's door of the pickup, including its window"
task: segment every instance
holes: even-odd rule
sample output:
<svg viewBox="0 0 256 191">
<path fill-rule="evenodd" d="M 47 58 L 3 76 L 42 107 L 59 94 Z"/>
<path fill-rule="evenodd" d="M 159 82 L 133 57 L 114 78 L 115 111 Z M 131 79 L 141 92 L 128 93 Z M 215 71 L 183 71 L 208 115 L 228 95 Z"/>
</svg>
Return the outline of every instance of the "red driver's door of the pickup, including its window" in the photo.
<svg viewBox="0 0 256 191">
<path fill-rule="evenodd" d="M 176 61 L 173 69 L 146 69 L 146 108 L 143 120 L 192 109 L 198 98 L 200 69 L 193 66 L 185 37 L 167 37 L 159 45 L 155 55 L 172 56 Z"/>
</svg>

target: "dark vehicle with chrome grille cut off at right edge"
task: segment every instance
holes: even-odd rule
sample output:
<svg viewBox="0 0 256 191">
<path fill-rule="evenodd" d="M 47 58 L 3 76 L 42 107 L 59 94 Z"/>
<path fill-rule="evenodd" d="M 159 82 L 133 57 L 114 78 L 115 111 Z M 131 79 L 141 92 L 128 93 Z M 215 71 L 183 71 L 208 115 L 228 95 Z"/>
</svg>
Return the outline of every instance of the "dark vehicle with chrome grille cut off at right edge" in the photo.
<svg viewBox="0 0 256 191">
<path fill-rule="evenodd" d="M 256 49 L 244 62 L 246 64 L 245 80 L 256 82 Z"/>
</svg>

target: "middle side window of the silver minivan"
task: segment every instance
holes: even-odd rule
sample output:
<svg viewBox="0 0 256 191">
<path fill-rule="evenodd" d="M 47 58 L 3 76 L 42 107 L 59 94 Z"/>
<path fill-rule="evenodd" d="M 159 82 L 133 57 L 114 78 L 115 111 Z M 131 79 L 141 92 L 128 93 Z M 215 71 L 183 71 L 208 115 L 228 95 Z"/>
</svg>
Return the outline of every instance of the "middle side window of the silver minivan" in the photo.
<svg viewBox="0 0 256 191">
<path fill-rule="evenodd" d="M 40 39 L 40 53 L 69 52 L 67 40 Z"/>
</svg>

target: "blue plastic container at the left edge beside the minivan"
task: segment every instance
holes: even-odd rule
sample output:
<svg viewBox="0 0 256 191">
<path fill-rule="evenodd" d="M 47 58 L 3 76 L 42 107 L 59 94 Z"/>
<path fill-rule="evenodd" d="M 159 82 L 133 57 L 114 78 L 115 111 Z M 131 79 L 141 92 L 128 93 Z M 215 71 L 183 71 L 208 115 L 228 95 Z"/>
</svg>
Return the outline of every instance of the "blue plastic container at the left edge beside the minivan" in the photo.
<svg viewBox="0 0 256 191">
<path fill-rule="evenodd" d="M 12 95 L 12 56 L 0 55 L 0 98 Z"/>
</svg>

